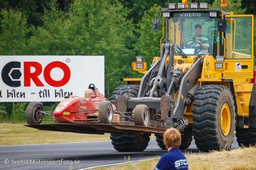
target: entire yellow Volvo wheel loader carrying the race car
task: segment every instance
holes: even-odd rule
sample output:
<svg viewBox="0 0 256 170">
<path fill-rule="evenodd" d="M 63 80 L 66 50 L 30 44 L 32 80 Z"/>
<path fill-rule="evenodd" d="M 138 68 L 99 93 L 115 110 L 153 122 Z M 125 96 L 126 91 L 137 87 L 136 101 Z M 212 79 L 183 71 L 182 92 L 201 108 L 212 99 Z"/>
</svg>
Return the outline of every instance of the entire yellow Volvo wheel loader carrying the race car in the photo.
<svg viewBox="0 0 256 170">
<path fill-rule="evenodd" d="M 122 79 L 111 102 L 120 122 L 139 127 L 177 128 L 180 148 L 194 136 L 200 151 L 229 150 L 236 131 L 239 145 L 256 143 L 256 85 L 253 15 L 209 9 L 207 3 L 170 3 L 154 20 L 162 22 L 160 57 L 146 70 L 143 57 L 132 63 L 142 78 Z M 162 43 L 165 40 L 165 43 Z M 145 131 L 111 133 L 117 151 L 143 151 Z M 162 134 L 155 133 L 165 149 Z"/>
</svg>

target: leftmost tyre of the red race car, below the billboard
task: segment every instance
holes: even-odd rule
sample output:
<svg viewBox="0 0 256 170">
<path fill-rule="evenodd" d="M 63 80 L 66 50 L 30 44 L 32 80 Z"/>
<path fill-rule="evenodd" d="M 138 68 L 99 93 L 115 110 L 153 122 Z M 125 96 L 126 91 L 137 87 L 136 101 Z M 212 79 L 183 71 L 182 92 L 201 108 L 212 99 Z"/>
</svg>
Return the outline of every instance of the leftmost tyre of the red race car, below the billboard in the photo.
<svg viewBox="0 0 256 170">
<path fill-rule="evenodd" d="M 44 107 L 40 102 L 30 102 L 26 109 L 26 122 L 29 125 L 40 124 L 42 120 L 39 120 L 44 116 L 43 113 L 38 111 L 44 111 Z"/>
</svg>

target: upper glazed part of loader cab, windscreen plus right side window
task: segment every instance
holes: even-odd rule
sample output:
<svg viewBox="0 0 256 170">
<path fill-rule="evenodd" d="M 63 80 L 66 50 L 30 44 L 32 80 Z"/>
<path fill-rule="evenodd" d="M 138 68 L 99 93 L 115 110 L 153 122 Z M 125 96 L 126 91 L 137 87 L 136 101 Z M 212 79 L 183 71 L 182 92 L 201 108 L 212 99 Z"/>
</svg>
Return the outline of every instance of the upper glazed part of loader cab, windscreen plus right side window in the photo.
<svg viewBox="0 0 256 170">
<path fill-rule="evenodd" d="M 163 36 L 167 43 L 176 44 L 186 55 L 251 59 L 253 63 L 253 15 L 233 15 L 233 12 L 220 9 L 174 7 L 161 10 L 165 22 Z M 195 42 L 197 25 L 201 27 L 199 37 L 203 37 L 200 40 L 207 50 Z M 175 54 L 181 55 L 177 49 Z"/>
</svg>

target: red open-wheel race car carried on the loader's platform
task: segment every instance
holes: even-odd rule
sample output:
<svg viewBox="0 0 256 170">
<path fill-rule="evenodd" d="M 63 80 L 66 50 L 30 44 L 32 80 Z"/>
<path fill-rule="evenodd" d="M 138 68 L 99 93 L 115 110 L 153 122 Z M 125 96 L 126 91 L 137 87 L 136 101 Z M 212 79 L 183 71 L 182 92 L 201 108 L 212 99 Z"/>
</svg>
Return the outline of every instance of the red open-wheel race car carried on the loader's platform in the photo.
<svg viewBox="0 0 256 170">
<path fill-rule="evenodd" d="M 61 101 L 54 111 L 44 111 L 40 102 L 29 103 L 26 109 L 26 121 L 29 125 L 40 124 L 42 120 L 54 120 L 57 123 L 119 123 L 116 108 L 103 95 L 96 92 L 95 85 L 89 89 L 94 91 L 90 98 L 75 96 Z M 44 119 L 46 115 L 53 115 L 53 119 Z"/>
</svg>

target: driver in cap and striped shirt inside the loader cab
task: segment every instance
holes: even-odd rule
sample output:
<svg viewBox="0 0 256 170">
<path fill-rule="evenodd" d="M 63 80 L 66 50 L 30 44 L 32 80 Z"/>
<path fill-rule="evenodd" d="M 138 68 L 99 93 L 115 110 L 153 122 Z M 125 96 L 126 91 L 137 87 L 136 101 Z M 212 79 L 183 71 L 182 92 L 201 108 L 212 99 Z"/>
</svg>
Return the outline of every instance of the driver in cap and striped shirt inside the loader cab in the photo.
<svg viewBox="0 0 256 170">
<path fill-rule="evenodd" d="M 190 48 L 195 48 L 195 52 L 197 54 L 208 53 L 208 48 L 209 48 L 208 38 L 203 36 L 201 33 L 202 33 L 202 27 L 201 25 L 197 24 L 195 26 L 195 36 L 190 37 L 189 40 L 187 41 L 188 46 Z"/>
</svg>

